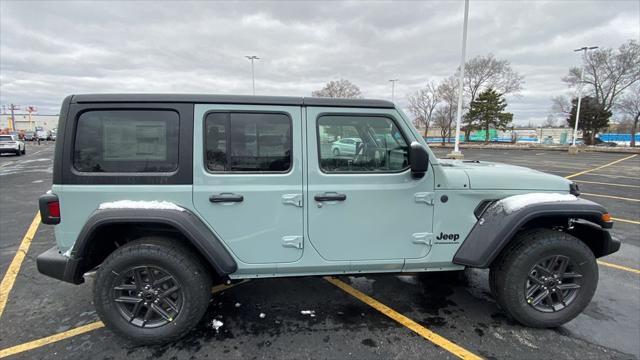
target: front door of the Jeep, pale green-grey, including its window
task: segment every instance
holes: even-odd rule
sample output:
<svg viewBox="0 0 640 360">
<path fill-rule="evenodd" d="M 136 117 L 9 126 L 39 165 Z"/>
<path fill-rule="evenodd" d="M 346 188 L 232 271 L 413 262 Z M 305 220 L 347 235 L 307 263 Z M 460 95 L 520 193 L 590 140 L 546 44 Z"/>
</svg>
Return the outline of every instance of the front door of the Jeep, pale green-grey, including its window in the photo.
<svg viewBox="0 0 640 360">
<path fill-rule="evenodd" d="M 433 171 L 411 176 L 413 138 L 395 109 L 307 108 L 308 236 L 328 260 L 421 258 L 431 248 Z M 362 141 L 335 156 L 335 138 Z M 389 141 L 376 141 L 384 137 Z M 392 140 L 392 141 L 391 141 Z M 315 146 L 314 146 L 315 144 Z"/>
</svg>

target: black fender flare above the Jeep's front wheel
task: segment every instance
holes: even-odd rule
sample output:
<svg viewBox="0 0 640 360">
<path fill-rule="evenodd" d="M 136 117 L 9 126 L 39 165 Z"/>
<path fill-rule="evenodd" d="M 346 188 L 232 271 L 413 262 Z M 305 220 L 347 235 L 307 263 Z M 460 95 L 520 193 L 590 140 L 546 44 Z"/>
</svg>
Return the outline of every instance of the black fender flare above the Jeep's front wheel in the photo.
<svg viewBox="0 0 640 360">
<path fill-rule="evenodd" d="M 607 210 L 585 199 L 570 202 L 534 203 L 513 212 L 506 212 L 499 203 L 489 206 L 473 226 L 453 257 L 453 263 L 487 268 L 525 224 L 540 218 L 584 219 L 600 225 L 606 232 L 612 223 L 604 222 Z M 610 239 L 610 236 L 607 236 Z"/>
</svg>

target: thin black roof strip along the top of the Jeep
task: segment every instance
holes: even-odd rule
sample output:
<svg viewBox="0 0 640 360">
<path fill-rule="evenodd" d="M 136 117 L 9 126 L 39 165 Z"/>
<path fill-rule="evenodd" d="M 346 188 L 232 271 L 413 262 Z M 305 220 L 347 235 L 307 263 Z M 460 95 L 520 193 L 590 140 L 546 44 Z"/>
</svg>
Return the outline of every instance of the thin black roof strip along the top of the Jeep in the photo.
<svg viewBox="0 0 640 360">
<path fill-rule="evenodd" d="M 71 103 L 197 103 L 369 108 L 395 107 L 390 101 L 375 99 L 209 94 L 80 94 L 72 95 Z"/>
</svg>

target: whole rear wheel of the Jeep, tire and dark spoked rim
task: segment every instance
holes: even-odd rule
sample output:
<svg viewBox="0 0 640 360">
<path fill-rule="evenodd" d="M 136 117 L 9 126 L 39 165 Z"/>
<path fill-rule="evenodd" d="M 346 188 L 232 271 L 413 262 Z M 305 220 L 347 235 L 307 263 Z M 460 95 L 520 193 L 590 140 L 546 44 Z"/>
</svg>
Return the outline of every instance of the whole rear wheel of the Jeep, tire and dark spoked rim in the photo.
<svg viewBox="0 0 640 360">
<path fill-rule="evenodd" d="M 107 257 L 96 277 L 94 303 L 109 329 L 155 344 L 179 339 L 200 321 L 211 276 L 199 255 L 178 241 L 140 239 Z"/>
</svg>

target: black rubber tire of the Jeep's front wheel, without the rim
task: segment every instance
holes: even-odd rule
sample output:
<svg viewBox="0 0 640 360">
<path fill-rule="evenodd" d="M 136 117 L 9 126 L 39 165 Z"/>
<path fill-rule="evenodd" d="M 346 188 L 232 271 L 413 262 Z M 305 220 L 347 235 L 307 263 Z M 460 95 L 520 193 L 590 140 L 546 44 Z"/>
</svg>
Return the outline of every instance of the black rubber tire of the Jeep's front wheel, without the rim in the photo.
<svg viewBox="0 0 640 360">
<path fill-rule="evenodd" d="M 552 255 L 567 256 L 582 275 L 576 297 L 557 312 L 541 312 L 527 302 L 526 280 L 534 265 Z M 517 235 L 491 265 L 489 285 L 498 305 L 523 325 L 558 327 L 580 314 L 589 304 L 598 283 L 598 265 L 589 247 L 567 233 L 531 229 Z"/>
</svg>

